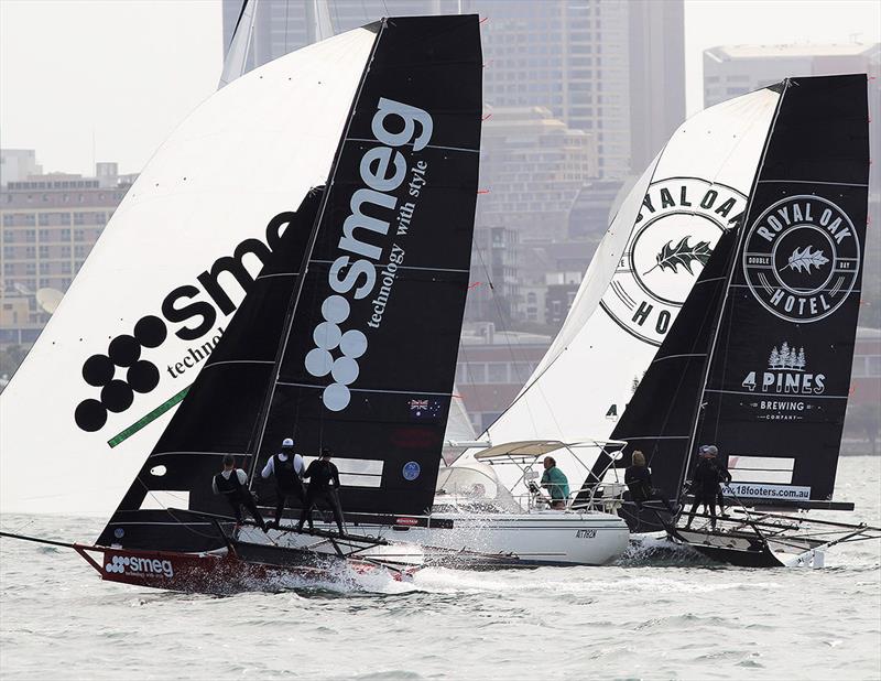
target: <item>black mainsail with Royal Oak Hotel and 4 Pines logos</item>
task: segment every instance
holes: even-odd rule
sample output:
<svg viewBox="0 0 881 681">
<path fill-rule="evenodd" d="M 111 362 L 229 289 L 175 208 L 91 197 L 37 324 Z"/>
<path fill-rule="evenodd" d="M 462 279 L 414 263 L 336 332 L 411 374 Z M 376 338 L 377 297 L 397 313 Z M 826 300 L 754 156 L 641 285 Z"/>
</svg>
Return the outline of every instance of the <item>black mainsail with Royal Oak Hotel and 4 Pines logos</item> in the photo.
<svg viewBox="0 0 881 681">
<path fill-rule="evenodd" d="M 695 439 L 728 456 L 741 498 L 833 494 L 866 239 L 866 85 L 787 80 L 757 177 Z"/>
</svg>

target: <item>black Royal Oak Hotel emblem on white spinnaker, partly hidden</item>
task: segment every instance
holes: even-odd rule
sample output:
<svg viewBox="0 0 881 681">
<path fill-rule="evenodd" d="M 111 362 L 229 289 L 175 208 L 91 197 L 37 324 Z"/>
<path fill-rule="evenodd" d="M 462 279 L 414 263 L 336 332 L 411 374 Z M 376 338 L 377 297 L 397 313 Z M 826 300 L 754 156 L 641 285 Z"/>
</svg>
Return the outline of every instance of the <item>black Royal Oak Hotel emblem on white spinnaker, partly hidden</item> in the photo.
<svg viewBox="0 0 881 681">
<path fill-rule="evenodd" d="M 629 334 L 660 346 L 719 237 L 746 205 L 737 190 L 706 180 L 653 182 L 602 309 Z"/>
</svg>

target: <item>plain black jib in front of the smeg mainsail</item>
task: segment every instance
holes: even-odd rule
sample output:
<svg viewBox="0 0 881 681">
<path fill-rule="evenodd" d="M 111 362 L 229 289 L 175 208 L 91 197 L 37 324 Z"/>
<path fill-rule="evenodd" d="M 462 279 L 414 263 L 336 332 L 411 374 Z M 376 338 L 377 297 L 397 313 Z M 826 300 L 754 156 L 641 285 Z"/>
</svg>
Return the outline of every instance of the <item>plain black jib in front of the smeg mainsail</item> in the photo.
<svg viewBox="0 0 881 681">
<path fill-rule="evenodd" d="M 128 548 L 209 550 L 222 544 L 210 521 L 174 508 L 229 516 L 211 477 L 233 454 L 248 469 L 263 423 L 265 396 L 287 329 L 300 267 L 323 192 L 271 221 L 272 256 L 229 323 L 206 366 L 163 431 L 98 543 Z M 170 510 L 166 507 L 171 507 Z"/>
</svg>

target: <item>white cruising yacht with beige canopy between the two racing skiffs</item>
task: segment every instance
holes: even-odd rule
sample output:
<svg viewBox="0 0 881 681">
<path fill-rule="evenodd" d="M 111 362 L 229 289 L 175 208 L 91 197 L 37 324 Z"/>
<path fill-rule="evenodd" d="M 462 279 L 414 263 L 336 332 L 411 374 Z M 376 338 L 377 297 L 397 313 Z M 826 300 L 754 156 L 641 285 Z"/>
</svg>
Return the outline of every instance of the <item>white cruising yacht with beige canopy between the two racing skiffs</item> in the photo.
<svg viewBox="0 0 881 681">
<path fill-rule="evenodd" d="M 550 499 L 535 484 L 535 467 L 541 466 L 543 456 L 563 450 L 577 457 L 583 450 L 599 448 L 610 454 L 624 444 L 536 440 L 488 447 L 467 465 L 440 468 L 429 514 L 393 518 L 347 514 L 351 521 L 347 532 L 368 537 L 384 533 L 389 539 L 406 542 L 370 547 L 363 553 L 401 562 L 449 564 L 453 560 L 471 568 L 605 565 L 628 545 L 627 523 L 616 515 L 623 485 L 606 482 L 591 488 L 587 499 L 577 501 L 585 490 L 576 489 L 569 494 L 565 509 L 551 509 Z M 496 474 L 499 466 L 519 471 L 518 482 L 526 480 L 531 491 L 512 495 Z M 610 474 L 613 476 L 614 469 Z M 315 527 L 329 530 L 333 523 L 318 521 Z M 259 534 L 262 533 L 254 532 L 254 540 Z M 308 534 L 284 531 L 270 532 L 270 538 L 276 543 L 313 548 L 325 541 L 316 543 Z M 443 551 L 434 555 L 431 549 Z M 327 550 L 333 550 L 329 542 Z"/>
</svg>

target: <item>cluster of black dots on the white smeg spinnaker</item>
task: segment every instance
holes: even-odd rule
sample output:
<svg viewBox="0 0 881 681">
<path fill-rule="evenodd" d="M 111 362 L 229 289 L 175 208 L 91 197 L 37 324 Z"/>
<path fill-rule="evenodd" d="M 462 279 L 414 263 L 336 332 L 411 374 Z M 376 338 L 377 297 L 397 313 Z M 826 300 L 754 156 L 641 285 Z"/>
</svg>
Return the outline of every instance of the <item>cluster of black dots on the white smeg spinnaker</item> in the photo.
<svg viewBox="0 0 881 681">
<path fill-rule="evenodd" d="M 134 325 L 133 335 L 117 336 L 110 342 L 107 355 L 93 355 L 83 364 L 83 378 L 89 386 L 101 389 L 100 400 L 83 400 L 74 411 L 80 430 L 94 433 L 107 423 L 108 412 L 121 413 L 134 402 L 134 393 L 152 391 L 159 386 L 159 369 L 152 361 L 141 359 L 142 348 L 159 347 L 168 332 L 165 322 L 148 315 Z M 117 368 L 126 379 L 117 378 Z"/>
</svg>

